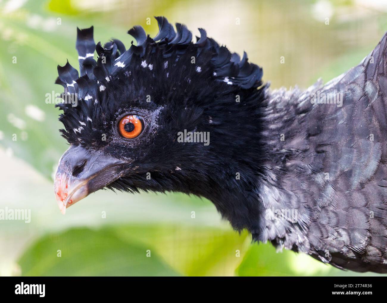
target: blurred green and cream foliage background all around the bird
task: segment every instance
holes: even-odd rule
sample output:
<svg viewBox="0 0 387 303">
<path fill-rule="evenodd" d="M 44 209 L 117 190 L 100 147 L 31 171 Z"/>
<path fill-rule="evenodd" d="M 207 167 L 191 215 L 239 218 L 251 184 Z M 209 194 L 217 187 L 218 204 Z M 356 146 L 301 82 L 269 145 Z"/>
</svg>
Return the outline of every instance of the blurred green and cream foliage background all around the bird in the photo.
<svg viewBox="0 0 387 303">
<path fill-rule="evenodd" d="M 383 0 L 0 0 L 0 209 L 31 209 L 31 223 L 0 220 L 0 275 L 359 275 L 251 244 L 210 201 L 183 194 L 98 191 L 60 213 L 52 176 L 67 145 L 58 109 L 45 103 L 62 92 L 56 66 L 68 59 L 78 67 L 77 26 L 94 25 L 96 42 L 128 47 L 136 24 L 156 35 L 154 15 L 247 51 L 272 89 L 327 82 L 387 30 Z"/>
</svg>

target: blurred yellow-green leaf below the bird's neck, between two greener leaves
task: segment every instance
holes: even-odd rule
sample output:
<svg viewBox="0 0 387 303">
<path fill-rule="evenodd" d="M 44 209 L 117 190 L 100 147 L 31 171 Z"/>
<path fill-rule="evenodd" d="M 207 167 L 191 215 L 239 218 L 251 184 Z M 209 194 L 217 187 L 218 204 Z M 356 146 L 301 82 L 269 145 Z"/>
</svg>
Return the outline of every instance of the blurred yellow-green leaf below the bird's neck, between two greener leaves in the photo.
<svg viewBox="0 0 387 303">
<path fill-rule="evenodd" d="M 114 228 L 126 240 L 152 245 L 175 270 L 186 276 L 233 276 L 251 236 L 231 228 L 153 224 Z"/>
</svg>

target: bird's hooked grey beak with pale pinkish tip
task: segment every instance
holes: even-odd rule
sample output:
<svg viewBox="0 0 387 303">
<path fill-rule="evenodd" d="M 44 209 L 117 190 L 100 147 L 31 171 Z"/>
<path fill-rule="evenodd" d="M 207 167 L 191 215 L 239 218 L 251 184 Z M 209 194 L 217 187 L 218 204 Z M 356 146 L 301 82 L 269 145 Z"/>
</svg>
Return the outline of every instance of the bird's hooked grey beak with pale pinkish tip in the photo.
<svg viewBox="0 0 387 303">
<path fill-rule="evenodd" d="M 121 162 L 101 152 L 70 146 L 59 160 L 54 192 L 62 214 L 66 208 L 120 177 Z"/>
</svg>

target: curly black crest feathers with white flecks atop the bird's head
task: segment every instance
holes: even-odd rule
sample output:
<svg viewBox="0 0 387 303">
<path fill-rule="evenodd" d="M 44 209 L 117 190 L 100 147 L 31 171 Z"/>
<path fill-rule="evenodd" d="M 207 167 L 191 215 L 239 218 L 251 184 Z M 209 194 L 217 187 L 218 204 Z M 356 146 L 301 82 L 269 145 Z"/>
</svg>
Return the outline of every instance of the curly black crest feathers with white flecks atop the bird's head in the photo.
<svg viewBox="0 0 387 303">
<path fill-rule="evenodd" d="M 186 61 L 195 60 L 197 73 L 211 71 L 213 81 L 233 86 L 234 91 L 255 89 L 262 84 L 262 68 L 249 63 L 246 53 L 242 58 L 237 53 L 230 53 L 225 46 L 219 46 L 214 39 L 208 38 L 202 28 L 199 28 L 200 38 L 196 37 L 197 42 L 193 43 L 192 33 L 185 25 L 176 23 L 175 31 L 165 17 L 156 17 L 156 20 L 159 33 L 153 39 L 141 26 L 134 26 L 128 31 L 137 41 L 137 45 L 132 41 L 128 49 L 117 39 L 103 46 L 95 44 L 93 27 L 77 29 L 80 74 L 67 62 L 63 67 L 58 66 L 59 77 L 55 82 L 61 84 L 65 91 L 62 94 L 65 102 L 57 106 L 63 110 L 59 118 L 65 126 L 65 130 L 61 130 L 62 135 L 70 144 L 82 142 L 79 135 L 87 133 L 87 128 L 89 131 L 96 128 L 92 121 L 98 120 L 104 112 L 110 84 L 125 73 L 129 77 L 142 68 L 149 72 L 148 77 L 151 78 L 158 72 L 157 65 L 165 69 L 165 77 L 169 74 L 182 77 L 176 70 L 181 69 L 179 61 L 184 57 Z M 94 59 L 94 51 L 98 54 L 97 60 Z M 77 103 L 69 102 L 75 98 Z"/>
</svg>

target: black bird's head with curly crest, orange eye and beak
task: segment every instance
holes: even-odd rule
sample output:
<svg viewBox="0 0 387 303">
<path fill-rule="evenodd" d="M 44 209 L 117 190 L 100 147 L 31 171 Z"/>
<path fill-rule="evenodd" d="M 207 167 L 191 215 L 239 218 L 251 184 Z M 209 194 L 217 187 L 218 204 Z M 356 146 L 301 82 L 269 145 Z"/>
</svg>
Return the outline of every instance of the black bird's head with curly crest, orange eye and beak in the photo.
<svg viewBox="0 0 387 303">
<path fill-rule="evenodd" d="M 128 31 L 137 40 L 128 50 L 116 39 L 95 45 L 93 27 L 78 29 L 80 76 L 58 66 L 70 144 L 55 175 L 58 205 L 64 213 L 101 188 L 179 191 L 211 199 L 231 221 L 225 195 L 244 194 L 262 173 L 262 69 L 204 29 L 193 43 L 184 25 L 176 33 L 156 19 L 153 39 Z"/>
</svg>

